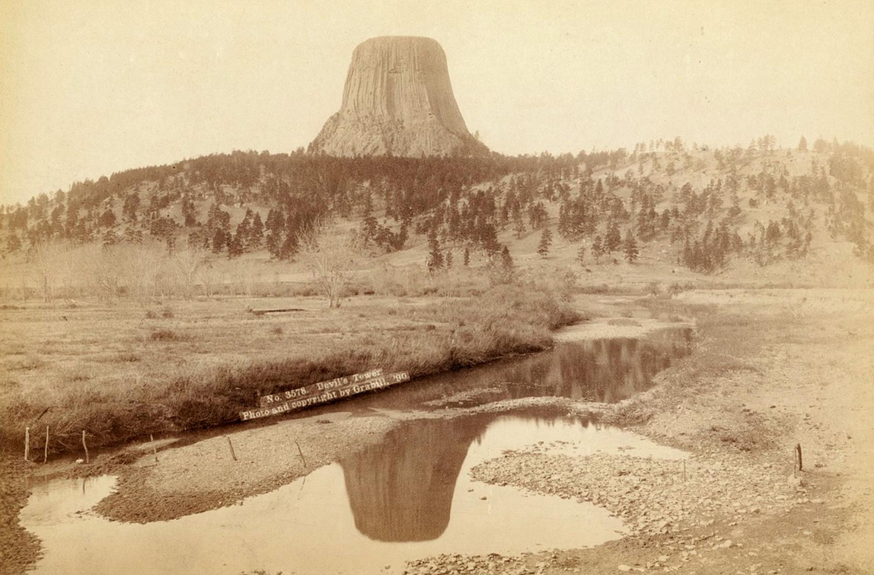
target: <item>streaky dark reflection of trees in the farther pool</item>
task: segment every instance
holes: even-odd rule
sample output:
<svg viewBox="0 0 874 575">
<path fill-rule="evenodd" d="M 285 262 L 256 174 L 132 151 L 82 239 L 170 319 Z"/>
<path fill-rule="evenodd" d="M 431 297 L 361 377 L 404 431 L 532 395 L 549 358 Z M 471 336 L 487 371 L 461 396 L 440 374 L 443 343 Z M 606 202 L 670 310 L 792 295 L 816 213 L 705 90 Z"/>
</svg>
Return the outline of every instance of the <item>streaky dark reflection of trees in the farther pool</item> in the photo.
<svg viewBox="0 0 874 575">
<path fill-rule="evenodd" d="M 645 340 L 600 339 L 563 343 L 549 354 L 506 365 L 501 378 L 513 398 L 558 395 L 613 403 L 649 387 L 655 373 L 690 353 L 690 330 L 664 331 Z"/>
</svg>

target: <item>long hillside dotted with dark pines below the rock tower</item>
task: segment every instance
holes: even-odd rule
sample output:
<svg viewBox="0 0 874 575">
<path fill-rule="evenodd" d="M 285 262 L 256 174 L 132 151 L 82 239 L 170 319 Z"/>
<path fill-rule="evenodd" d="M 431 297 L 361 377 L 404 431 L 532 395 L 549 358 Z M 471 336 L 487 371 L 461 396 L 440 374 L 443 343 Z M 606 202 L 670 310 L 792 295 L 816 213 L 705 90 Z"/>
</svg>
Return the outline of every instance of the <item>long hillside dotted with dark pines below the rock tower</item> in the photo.
<svg viewBox="0 0 874 575">
<path fill-rule="evenodd" d="M 371 255 L 417 248 L 431 272 L 456 250 L 461 264 L 470 253 L 550 258 L 559 244 L 586 267 L 646 256 L 700 274 L 732 261 L 803 261 L 811 246 L 843 242 L 870 263 L 872 172 L 871 149 L 804 138 L 775 149 L 769 135 L 746 148 L 677 137 L 577 156 L 235 151 L 2 206 L 0 245 L 9 260 L 46 243 L 142 242 L 294 260 L 300 232 L 329 216 L 357 229 Z"/>
</svg>

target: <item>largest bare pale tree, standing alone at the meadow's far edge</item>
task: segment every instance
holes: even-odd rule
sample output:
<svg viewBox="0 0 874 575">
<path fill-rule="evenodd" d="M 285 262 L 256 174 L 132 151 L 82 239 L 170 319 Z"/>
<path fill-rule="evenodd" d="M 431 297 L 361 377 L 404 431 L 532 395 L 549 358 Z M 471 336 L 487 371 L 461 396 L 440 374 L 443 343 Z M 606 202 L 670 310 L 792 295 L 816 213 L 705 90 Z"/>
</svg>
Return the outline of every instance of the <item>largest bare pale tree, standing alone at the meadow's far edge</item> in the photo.
<svg viewBox="0 0 874 575">
<path fill-rule="evenodd" d="M 339 308 L 343 292 L 354 279 L 360 254 L 355 232 L 344 232 L 329 221 L 316 222 L 298 238 L 298 260 L 313 274 L 329 308 Z"/>
</svg>

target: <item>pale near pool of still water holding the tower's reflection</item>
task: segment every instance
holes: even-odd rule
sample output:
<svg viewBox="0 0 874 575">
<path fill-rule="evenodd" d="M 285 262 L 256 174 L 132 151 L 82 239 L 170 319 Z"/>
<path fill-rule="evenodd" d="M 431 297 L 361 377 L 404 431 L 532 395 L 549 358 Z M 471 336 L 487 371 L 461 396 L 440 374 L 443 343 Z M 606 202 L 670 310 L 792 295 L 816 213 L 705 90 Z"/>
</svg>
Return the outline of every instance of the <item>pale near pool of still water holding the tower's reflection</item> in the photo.
<svg viewBox="0 0 874 575">
<path fill-rule="evenodd" d="M 38 573 L 396 572 L 435 553 L 519 553 L 621 537 L 621 521 L 591 503 L 469 479 L 477 463 L 538 441 L 567 442 L 569 453 L 633 447 L 622 453 L 683 457 L 580 419 L 426 419 L 240 505 L 145 525 L 109 522 L 87 511 L 114 485 L 103 476 L 34 486 L 21 521 L 43 540 Z"/>
</svg>

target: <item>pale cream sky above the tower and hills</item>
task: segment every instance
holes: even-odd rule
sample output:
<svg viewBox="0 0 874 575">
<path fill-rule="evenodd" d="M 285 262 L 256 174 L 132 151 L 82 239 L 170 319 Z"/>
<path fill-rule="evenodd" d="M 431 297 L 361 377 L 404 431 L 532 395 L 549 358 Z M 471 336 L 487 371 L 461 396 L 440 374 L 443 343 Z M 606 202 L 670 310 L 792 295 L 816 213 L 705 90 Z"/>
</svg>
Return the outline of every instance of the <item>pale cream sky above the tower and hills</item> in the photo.
<svg viewBox="0 0 874 575">
<path fill-rule="evenodd" d="M 874 144 L 871 0 L 0 0 L 0 202 L 306 147 L 384 35 L 440 42 L 468 128 L 505 154 Z"/>
</svg>

